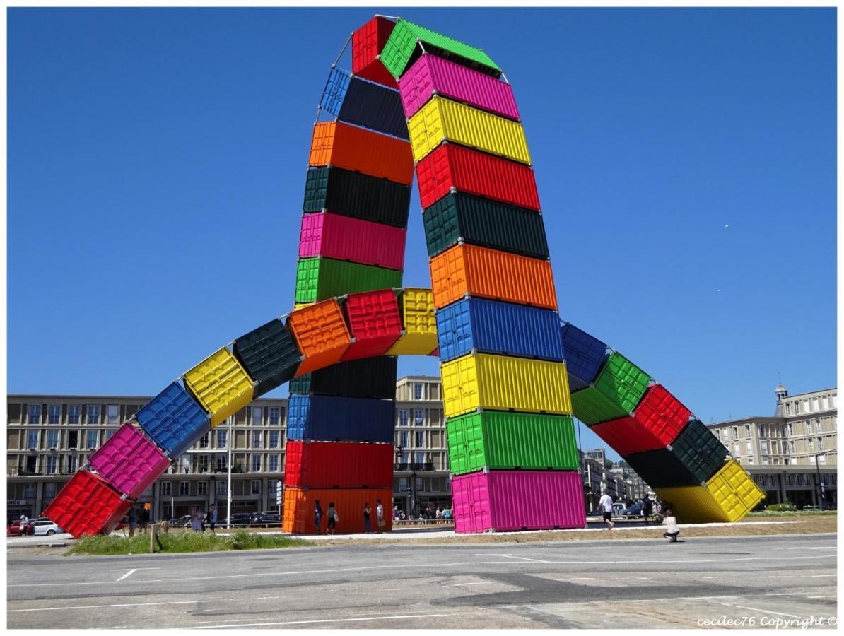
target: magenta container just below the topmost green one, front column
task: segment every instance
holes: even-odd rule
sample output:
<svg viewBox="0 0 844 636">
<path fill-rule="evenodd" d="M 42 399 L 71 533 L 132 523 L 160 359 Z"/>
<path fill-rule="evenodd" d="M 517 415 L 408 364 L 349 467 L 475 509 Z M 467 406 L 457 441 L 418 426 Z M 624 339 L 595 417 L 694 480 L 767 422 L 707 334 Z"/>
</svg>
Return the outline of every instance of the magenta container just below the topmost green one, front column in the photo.
<svg viewBox="0 0 844 636">
<path fill-rule="evenodd" d="M 510 84 L 425 53 L 398 80 L 404 115 L 409 119 L 431 94 L 445 95 L 497 115 L 519 119 Z"/>
</svg>

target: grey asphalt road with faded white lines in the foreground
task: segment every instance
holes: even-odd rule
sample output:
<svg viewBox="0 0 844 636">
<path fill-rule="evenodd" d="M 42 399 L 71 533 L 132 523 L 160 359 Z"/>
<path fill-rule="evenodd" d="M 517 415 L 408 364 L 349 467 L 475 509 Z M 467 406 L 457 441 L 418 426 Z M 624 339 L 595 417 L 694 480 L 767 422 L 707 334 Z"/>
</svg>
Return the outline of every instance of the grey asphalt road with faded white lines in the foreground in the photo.
<svg viewBox="0 0 844 636">
<path fill-rule="evenodd" d="M 8 551 L 8 628 L 830 628 L 837 612 L 835 535 L 26 552 Z"/>
</svg>

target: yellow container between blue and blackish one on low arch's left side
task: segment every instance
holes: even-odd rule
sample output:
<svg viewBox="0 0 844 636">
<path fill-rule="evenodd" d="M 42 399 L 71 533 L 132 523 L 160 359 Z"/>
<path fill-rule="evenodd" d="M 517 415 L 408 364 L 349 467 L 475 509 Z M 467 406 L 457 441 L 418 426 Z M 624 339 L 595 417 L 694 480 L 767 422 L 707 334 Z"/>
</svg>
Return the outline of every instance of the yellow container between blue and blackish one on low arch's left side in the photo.
<svg viewBox="0 0 844 636">
<path fill-rule="evenodd" d="M 211 413 L 211 426 L 252 402 L 255 383 L 234 355 L 221 348 L 185 374 L 185 385 Z"/>
</svg>

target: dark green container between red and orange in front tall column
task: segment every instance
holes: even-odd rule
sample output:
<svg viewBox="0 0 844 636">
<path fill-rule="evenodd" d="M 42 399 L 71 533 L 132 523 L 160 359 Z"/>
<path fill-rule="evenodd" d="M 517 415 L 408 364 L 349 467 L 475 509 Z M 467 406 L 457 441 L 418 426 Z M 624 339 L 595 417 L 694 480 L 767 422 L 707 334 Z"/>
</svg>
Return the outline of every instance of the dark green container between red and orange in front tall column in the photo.
<svg viewBox="0 0 844 636">
<path fill-rule="evenodd" d="M 458 240 L 513 254 L 548 258 L 542 214 L 484 197 L 452 192 L 422 214 L 428 256 Z"/>
</svg>

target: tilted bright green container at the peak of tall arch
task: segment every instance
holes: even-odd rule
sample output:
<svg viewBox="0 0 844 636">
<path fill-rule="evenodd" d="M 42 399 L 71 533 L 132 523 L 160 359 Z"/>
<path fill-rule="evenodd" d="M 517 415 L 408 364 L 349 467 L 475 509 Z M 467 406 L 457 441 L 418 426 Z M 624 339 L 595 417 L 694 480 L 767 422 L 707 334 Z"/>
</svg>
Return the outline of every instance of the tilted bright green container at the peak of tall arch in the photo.
<svg viewBox="0 0 844 636">
<path fill-rule="evenodd" d="M 381 51 L 381 63 L 387 67 L 394 78 L 401 77 L 404 69 L 408 67 L 417 42 L 422 42 L 425 51 L 434 53 L 437 57 L 444 57 L 446 60 L 463 64 L 495 78 L 501 74 L 498 65 L 482 49 L 425 29 L 419 24 L 399 19 Z"/>
</svg>

